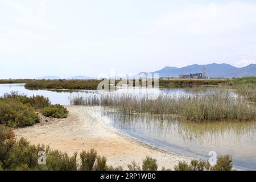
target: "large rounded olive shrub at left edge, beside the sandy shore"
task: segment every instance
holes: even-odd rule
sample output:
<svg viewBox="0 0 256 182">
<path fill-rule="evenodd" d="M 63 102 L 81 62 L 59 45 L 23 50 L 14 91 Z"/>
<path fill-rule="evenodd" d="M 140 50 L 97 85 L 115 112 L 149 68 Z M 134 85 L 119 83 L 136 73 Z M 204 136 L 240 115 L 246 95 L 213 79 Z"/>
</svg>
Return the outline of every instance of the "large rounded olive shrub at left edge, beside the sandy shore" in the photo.
<svg viewBox="0 0 256 182">
<path fill-rule="evenodd" d="M 31 106 L 13 99 L 0 100 L 0 124 L 19 127 L 32 126 L 36 122 L 39 122 L 39 117 Z"/>
</svg>

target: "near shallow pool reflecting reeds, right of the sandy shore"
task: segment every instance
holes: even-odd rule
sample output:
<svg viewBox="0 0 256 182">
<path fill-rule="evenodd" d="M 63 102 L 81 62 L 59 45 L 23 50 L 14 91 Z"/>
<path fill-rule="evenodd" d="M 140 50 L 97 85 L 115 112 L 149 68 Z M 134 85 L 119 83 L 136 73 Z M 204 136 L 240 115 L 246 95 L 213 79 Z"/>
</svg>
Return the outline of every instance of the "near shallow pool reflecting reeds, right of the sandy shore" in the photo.
<svg viewBox="0 0 256 182">
<path fill-rule="evenodd" d="M 100 112 L 109 125 L 161 150 L 208 159 L 209 151 L 233 156 L 234 166 L 256 169 L 256 122 L 185 122 L 175 116 Z"/>
</svg>

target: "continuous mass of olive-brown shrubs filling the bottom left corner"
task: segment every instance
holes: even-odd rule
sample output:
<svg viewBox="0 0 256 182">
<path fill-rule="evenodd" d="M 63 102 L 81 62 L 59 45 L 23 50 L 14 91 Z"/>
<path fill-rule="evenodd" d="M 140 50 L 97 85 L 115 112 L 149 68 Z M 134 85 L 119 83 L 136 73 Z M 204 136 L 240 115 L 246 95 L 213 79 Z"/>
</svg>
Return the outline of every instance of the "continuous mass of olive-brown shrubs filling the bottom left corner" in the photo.
<svg viewBox="0 0 256 182">
<path fill-rule="evenodd" d="M 93 149 L 80 154 L 68 156 L 67 152 L 50 150 L 49 146 L 31 145 L 26 139 L 14 139 L 13 131 L 0 125 L 0 168 L 3 170 L 47 170 L 47 171 L 76 171 L 76 170 L 120 170 L 106 164 L 106 158 L 99 156 Z M 39 151 L 46 153 L 46 165 L 39 165 Z"/>
</svg>

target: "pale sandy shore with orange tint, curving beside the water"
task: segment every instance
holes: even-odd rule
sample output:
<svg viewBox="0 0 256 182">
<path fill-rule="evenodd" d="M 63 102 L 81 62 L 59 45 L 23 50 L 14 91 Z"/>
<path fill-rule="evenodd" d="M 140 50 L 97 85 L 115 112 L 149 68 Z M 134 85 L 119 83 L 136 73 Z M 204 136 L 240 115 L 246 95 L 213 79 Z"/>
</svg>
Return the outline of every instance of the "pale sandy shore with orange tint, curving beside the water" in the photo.
<svg viewBox="0 0 256 182">
<path fill-rule="evenodd" d="M 119 133 L 94 116 L 95 107 L 66 107 L 69 110 L 68 118 L 42 117 L 41 122 L 34 126 L 14 130 L 16 137 L 24 137 L 31 144 L 46 144 L 52 149 L 67 151 L 68 154 L 95 148 L 98 154 L 106 156 L 109 165 L 123 166 L 124 169 L 127 169 L 127 164 L 132 160 L 142 164 L 146 156 L 156 158 L 159 169 L 162 166 L 173 168 L 180 161 L 190 160 L 157 150 Z"/>
</svg>

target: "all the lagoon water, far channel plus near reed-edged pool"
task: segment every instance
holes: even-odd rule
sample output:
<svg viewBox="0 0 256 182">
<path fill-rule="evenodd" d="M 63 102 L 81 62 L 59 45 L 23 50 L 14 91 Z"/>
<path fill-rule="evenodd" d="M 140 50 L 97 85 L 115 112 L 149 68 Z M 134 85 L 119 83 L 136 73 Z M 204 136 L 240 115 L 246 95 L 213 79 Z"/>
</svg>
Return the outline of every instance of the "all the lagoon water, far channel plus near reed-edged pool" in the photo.
<svg viewBox="0 0 256 182">
<path fill-rule="evenodd" d="M 24 84 L 0 84 L 0 96 L 11 91 L 18 91 L 27 96 L 42 95 L 49 97 L 52 104 L 69 105 L 69 98 L 79 94 L 101 94 L 97 90 L 28 90 Z M 148 90 L 119 89 L 112 94 L 143 94 Z M 158 94 L 193 94 L 183 88 L 151 89 Z M 104 93 L 104 92 L 103 92 Z M 234 95 L 234 93 L 232 93 Z M 111 110 L 96 110 L 103 121 L 142 142 L 160 150 L 174 152 L 196 159 L 208 160 L 209 152 L 217 155 L 230 154 L 233 164 L 239 169 L 256 170 L 256 122 L 205 122 L 194 123 L 179 121 L 175 117 L 160 115 L 123 115 Z"/>
</svg>

